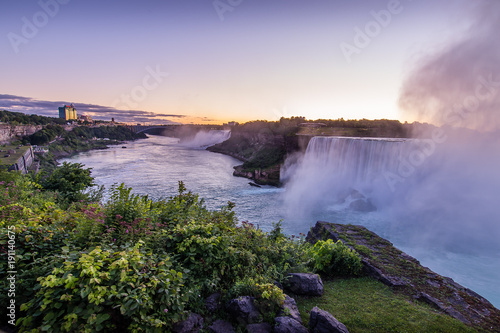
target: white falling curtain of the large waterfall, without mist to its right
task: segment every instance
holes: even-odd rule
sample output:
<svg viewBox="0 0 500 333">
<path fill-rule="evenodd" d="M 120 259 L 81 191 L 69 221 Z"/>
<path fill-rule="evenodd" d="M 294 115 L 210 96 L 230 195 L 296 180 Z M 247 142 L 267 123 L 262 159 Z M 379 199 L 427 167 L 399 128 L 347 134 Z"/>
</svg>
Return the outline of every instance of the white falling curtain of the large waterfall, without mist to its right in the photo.
<svg viewBox="0 0 500 333">
<path fill-rule="evenodd" d="M 409 149 L 413 147 L 413 149 Z M 283 170 L 285 203 L 297 213 L 345 204 L 359 211 L 383 205 L 394 175 L 418 142 L 410 139 L 314 137 L 298 163 Z"/>
</svg>

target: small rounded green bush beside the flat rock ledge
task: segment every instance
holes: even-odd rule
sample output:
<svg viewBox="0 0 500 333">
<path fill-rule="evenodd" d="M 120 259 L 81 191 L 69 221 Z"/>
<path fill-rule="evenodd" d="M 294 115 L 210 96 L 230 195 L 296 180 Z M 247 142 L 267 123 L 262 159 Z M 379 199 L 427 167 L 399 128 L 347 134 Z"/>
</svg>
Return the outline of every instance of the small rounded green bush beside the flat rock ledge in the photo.
<svg viewBox="0 0 500 333">
<path fill-rule="evenodd" d="M 320 240 L 310 249 L 314 269 L 331 275 L 357 275 L 361 258 L 341 240 Z"/>
</svg>

